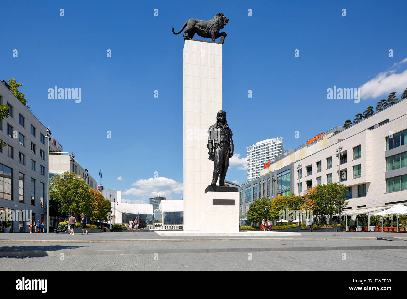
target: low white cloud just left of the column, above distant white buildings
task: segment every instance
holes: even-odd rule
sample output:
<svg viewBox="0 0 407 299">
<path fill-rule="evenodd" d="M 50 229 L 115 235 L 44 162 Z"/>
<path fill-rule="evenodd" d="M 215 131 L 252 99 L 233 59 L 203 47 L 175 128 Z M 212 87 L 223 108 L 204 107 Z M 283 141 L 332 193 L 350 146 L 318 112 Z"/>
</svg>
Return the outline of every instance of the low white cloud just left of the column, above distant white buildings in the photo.
<svg viewBox="0 0 407 299">
<path fill-rule="evenodd" d="M 184 192 L 183 183 L 179 183 L 173 179 L 168 179 L 166 177 L 139 179 L 131 186 L 135 186 L 137 188 L 130 188 L 123 192 L 123 194 L 131 194 L 138 197 L 150 198 L 154 196 L 169 197 L 171 196 L 172 192 Z"/>
</svg>

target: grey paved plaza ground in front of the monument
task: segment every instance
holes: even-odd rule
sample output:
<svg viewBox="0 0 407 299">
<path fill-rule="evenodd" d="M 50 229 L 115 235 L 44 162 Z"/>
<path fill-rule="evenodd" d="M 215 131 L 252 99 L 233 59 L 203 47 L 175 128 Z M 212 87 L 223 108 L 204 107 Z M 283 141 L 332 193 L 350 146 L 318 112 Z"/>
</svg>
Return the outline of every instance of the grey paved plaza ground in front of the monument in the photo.
<svg viewBox="0 0 407 299">
<path fill-rule="evenodd" d="M 383 240 L 385 239 L 385 240 Z M 154 232 L 1 234 L 6 271 L 405 270 L 407 234 L 162 237 Z"/>
</svg>

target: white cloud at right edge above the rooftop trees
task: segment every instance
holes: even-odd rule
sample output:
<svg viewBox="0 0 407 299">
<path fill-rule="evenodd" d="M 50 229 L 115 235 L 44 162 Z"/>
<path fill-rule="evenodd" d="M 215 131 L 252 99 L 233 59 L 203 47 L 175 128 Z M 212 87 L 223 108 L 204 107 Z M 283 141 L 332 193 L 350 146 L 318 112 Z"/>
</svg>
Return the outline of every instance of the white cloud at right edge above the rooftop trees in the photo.
<svg viewBox="0 0 407 299">
<path fill-rule="evenodd" d="M 394 63 L 391 68 L 385 72 L 376 75 L 372 80 L 363 84 L 361 88 L 361 97 L 363 100 L 368 98 L 378 98 L 387 96 L 390 92 L 403 92 L 407 87 L 407 69 L 396 74 L 396 70 L 407 63 L 407 58 Z M 400 98 L 400 96 L 398 96 Z"/>
</svg>

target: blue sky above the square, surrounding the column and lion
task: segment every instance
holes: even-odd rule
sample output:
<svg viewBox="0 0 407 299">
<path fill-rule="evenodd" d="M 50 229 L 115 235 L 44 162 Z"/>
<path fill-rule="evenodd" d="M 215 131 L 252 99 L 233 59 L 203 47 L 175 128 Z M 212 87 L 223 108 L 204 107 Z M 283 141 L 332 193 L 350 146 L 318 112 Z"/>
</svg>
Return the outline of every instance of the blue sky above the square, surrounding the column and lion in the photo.
<svg viewBox="0 0 407 299">
<path fill-rule="evenodd" d="M 91 175 L 102 168 L 105 188 L 137 203 L 157 194 L 177 199 L 184 41 L 171 26 L 179 31 L 189 18 L 219 12 L 230 20 L 223 29 L 223 110 L 235 156 L 226 179 L 243 183 L 247 146 L 282 136 L 285 149 L 296 148 L 389 92 L 403 92 L 406 8 L 405 1 L 4 2 L 0 79 L 23 84 L 31 111 Z M 81 88 L 81 103 L 48 99 L 55 85 Z M 328 100 L 334 85 L 363 85 L 362 100 Z"/>
</svg>

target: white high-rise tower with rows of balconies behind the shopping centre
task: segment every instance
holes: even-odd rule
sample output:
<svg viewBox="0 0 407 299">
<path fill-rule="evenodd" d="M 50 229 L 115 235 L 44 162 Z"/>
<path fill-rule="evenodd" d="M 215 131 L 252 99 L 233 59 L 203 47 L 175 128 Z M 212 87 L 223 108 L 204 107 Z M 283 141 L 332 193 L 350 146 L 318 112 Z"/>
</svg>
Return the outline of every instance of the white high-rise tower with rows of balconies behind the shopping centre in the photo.
<svg viewBox="0 0 407 299">
<path fill-rule="evenodd" d="M 260 177 L 260 170 L 272 158 L 284 151 L 282 137 L 259 141 L 246 148 L 247 153 L 247 181 Z"/>
</svg>

